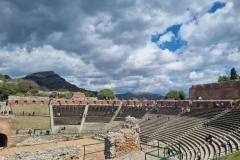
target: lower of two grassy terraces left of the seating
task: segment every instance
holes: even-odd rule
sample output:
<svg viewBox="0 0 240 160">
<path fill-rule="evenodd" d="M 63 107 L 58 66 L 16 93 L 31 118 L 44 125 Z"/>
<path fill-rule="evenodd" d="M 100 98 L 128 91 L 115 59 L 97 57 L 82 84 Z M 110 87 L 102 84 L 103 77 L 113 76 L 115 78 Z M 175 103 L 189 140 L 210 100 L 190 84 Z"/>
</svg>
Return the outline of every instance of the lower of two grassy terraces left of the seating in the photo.
<svg viewBox="0 0 240 160">
<path fill-rule="evenodd" d="M 25 130 L 27 128 L 32 129 L 49 129 L 50 117 L 38 117 L 38 116 L 13 116 L 12 117 L 12 129 Z"/>
</svg>

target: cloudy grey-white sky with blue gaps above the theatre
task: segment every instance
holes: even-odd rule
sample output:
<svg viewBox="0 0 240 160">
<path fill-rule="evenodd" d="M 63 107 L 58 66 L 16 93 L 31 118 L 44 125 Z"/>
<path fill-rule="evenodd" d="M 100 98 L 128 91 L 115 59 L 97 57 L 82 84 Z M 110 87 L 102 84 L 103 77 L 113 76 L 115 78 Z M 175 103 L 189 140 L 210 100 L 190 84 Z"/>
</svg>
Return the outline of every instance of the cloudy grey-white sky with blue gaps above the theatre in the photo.
<svg viewBox="0 0 240 160">
<path fill-rule="evenodd" d="M 0 73 L 165 94 L 240 72 L 239 0 L 0 0 Z"/>
</svg>

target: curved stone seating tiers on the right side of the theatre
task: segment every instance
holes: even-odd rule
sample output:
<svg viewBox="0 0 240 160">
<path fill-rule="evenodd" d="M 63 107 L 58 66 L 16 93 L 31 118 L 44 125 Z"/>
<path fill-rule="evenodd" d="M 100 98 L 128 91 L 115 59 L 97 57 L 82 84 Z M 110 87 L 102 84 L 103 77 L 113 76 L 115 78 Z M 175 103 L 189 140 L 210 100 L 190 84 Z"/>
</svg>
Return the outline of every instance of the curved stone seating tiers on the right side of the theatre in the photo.
<svg viewBox="0 0 240 160">
<path fill-rule="evenodd" d="M 223 139 L 230 140 L 233 151 L 239 150 L 240 134 L 232 132 L 240 127 L 240 110 L 233 109 L 230 112 L 220 116 L 218 119 L 209 123 L 205 128 L 203 123 L 207 119 L 213 118 L 221 113 L 224 109 L 202 109 L 191 110 L 183 114 L 178 121 L 169 124 L 164 130 L 154 135 L 154 138 L 165 139 L 170 141 L 178 141 L 185 144 L 181 147 L 181 151 L 185 153 L 184 159 L 196 159 L 197 151 L 201 153 L 201 158 L 207 160 L 213 158 L 215 154 L 225 152 L 225 149 L 220 146 Z M 161 113 L 161 109 L 158 110 Z M 162 115 L 160 118 L 153 117 L 150 120 L 143 121 L 141 126 L 141 135 L 148 136 L 154 133 L 164 123 L 166 117 Z M 197 118 L 195 118 L 197 117 Z M 195 130 L 193 130 L 195 128 Z M 207 145 L 205 136 L 212 135 L 212 144 Z"/>
</svg>

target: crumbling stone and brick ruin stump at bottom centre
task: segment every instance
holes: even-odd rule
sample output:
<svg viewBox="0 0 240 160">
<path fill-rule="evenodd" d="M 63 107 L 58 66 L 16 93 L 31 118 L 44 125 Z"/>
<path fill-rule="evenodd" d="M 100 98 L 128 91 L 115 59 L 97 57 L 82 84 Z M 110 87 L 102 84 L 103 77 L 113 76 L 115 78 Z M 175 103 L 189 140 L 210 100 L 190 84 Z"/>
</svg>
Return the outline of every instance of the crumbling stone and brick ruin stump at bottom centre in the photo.
<svg viewBox="0 0 240 160">
<path fill-rule="evenodd" d="M 118 132 L 106 134 L 104 153 L 106 158 L 119 157 L 140 150 L 140 128 L 137 122 L 136 118 L 128 116 Z"/>
</svg>

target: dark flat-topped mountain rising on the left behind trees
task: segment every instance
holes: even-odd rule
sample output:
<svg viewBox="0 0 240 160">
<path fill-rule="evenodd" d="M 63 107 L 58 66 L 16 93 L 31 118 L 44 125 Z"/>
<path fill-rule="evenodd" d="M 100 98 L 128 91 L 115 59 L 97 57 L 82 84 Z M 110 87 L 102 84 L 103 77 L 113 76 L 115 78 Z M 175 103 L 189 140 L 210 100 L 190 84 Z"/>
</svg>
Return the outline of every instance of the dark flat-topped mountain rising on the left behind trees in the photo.
<svg viewBox="0 0 240 160">
<path fill-rule="evenodd" d="M 27 75 L 23 79 L 35 81 L 38 85 L 44 86 L 49 90 L 66 89 L 73 92 L 80 90 L 79 87 L 67 82 L 64 78 L 60 77 L 53 71 L 33 73 Z"/>
</svg>

